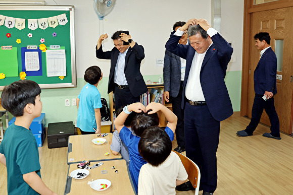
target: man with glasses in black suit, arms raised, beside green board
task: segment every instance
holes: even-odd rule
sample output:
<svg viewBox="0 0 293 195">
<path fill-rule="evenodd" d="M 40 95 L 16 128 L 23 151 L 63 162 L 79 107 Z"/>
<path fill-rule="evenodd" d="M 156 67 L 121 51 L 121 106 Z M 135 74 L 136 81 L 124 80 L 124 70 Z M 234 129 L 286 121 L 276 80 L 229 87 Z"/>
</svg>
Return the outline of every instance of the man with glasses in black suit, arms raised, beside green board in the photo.
<svg viewBox="0 0 293 195">
<path fill-rule="evenodd" d="M 117 31 L 111 37 L 115 47 L 111 51 L 103 51 L 102 41 L 107 38 L 108 35 L 103 34 L 97 41 L 96 57 L 111 59 L 108 93 L 113 91 L 115 94 L 115 110 L 118 110 L 123 105 L 139 102 L 140 95 L 148 91 L 140 73 L 144 49 L 130 35 Z"/>
</svg>

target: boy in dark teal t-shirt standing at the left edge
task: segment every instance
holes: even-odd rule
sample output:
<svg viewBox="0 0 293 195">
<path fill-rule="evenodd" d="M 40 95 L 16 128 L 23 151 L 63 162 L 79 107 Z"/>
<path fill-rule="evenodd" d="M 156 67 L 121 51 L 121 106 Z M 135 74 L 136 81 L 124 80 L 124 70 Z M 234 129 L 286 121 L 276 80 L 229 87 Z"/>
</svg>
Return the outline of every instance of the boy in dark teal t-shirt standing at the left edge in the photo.
<svg viewBox="0 0 293 195">
<path fill-rule="evenodd" d="M 41 89 L 34 81 L 20 80 L 6 86 L 2 106 L 16 119 L 0 144 L 0 162 L 7 167 L 8 194 L 57 194 L 42 181 L 38 147 L 29 126 L 41 115 Z"/>
</svg>

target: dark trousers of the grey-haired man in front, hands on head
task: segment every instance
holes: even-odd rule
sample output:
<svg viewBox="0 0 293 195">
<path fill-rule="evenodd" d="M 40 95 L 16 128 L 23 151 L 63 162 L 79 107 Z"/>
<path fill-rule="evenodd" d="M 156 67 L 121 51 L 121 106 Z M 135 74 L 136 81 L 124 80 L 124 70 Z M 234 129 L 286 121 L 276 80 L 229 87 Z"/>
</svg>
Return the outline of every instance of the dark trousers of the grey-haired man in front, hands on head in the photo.
<svg viewBox="0 0 293 195">
<path fill-rule="evenodd" d="M 211 115 L 208 106 L 192 106 L 185 102 L 184 132 L 186 156 L 201 171 L 201 187 L 214 192 L 217 188 L 217 157 L 220 121 Z"/>
</svg>

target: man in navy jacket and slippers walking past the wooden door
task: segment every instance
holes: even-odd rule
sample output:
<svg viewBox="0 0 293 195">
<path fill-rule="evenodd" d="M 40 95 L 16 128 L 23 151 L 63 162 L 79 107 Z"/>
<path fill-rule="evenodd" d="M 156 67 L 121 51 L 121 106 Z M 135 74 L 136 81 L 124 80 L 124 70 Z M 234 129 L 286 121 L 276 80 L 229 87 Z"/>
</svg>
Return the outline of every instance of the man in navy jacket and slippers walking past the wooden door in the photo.
<svg viewBox="0 0 293 195">
<path fill-rule="evenodd" d="M 277 93 L 277 57 L 270 47 L 271 37 L 269 33 L 260 32 L 254 36 L 254 39 L 257 49 L 261 50 L 261 58 L 254 71 L 255 98 L 252 106 L 252 117 L 246 129 L 238 131 L 236 135 L 239 137 L 252 136 L 265 109 L 271 122 L 271 133 L 264 133 L 263 136 L 280 140 L 280 123 L 273 97 Z M 263 96 L 266 99 L 263 99 Z"/>
</svg>

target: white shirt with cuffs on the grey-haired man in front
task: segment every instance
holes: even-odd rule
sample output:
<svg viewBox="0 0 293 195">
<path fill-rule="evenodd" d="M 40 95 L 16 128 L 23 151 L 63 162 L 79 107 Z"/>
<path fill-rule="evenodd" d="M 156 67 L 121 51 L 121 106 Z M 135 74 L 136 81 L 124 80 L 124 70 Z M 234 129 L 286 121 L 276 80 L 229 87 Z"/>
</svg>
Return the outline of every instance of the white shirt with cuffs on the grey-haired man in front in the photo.
<svg viewBox="0 0 293 195">
<path fill-rule="evenodd" d="M 174 33 L 174 35 L 182 36 L 183 33 L 184 31 L 180 31 L 180 28 L 178 28 L 177 31 Z M 209 28 L 207 33 L 210 37 L 212 37 L 215 34 L 217 34 L 218 31 L 213 28 Z M 185 97 L 188 100 L 206 101 L 203 90 L 202 90 L 201 81 L 200 81 L 200 72 L 201 72 L 201 68 L 202 68 L 202 64 L 203 64 L 203 60 L 205 58 L 206 52 L 198 53 L 196 51 L 196 53 L 194 53 L 194 56 L 191 62 L 190 72 L 187 79 L 187 84 L 185 87 Z"/>
</svg>

